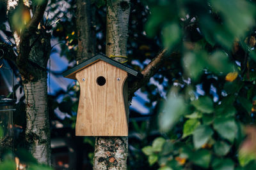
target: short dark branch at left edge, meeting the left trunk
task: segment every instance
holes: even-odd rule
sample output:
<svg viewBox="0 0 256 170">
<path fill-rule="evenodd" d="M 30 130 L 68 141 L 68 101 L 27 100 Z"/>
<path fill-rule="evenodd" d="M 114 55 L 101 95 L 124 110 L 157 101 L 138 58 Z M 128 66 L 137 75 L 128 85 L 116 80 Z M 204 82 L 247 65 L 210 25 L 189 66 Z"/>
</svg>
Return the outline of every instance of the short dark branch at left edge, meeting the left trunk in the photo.
<svg viewBox="0 0 256 170">
<path fill-rule="evenodd" d="M 0 42 L 0 58 L 15 62 L 17 55 L 13 51 L 13 47 L 7 43 Z"/>
</svg>

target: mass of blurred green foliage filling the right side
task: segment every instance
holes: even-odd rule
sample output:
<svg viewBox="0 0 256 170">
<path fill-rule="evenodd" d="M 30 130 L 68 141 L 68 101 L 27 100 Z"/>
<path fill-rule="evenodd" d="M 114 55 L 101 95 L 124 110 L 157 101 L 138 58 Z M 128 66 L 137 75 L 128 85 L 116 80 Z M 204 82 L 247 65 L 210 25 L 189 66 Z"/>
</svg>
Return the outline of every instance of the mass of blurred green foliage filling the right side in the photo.
<svg viewBox="0 0 256 170">
<path fill-rule="evenodd" d="M 164 138 L 142 148 L 148 164 L 159 169 L 254 169 L 255 1 L 143 2 L 151 11 L 148 36 L 181 55 L 179 83 L 170 83 L 159 110 Z M 154 150 L 159 139 L 161 149 Z"/>
</svg>

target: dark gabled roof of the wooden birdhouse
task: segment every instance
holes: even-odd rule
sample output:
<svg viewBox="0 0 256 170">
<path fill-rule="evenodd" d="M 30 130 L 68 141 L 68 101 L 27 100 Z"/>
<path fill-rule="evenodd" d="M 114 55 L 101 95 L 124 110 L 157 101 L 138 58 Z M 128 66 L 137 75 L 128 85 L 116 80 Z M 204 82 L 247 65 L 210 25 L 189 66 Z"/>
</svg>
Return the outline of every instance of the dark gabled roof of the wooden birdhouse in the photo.
<svg viewBox="0 0 256 170">
<path fill-rule="evenodd" d="M 84 62 L 81 62 L 77 66 L 74 66 L 71 69 L 68 69 L 67 71 L 63 72 L 63 76 L 65 76 L 66 78 L 76 79 L 75 74 L 78 71 L 94 64 L 95 62 L 97 62 L 99 60 L 103 60 L 105 62 L 108 62 L 112 66 L 118 67 L 118 68 L 126 71 L 127 73 L 132 74 L 133 76 L 142 77 L 142 74 L 140 72 L 138 72 L 134 69 L 131 69 L 130 67 L 127 67 L 124 64 L 121 64 L 120 62 L 117 62 L 116 60 L 110 59 L 109 57 L 107 57 L 105 55 L 102 55 L 102 54 L 97 54 L 94 57 L 92 57 L 88 60 L 85 60 Z"/>
</svg>

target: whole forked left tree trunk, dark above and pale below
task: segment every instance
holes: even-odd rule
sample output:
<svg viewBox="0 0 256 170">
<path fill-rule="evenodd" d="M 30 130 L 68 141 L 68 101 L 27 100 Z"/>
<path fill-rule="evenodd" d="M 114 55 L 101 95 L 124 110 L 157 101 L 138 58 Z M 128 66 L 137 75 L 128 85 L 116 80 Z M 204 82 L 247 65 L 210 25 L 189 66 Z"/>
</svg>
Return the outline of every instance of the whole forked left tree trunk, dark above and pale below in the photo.
<svg viewBox="0 0 256 170">
<path fill-rule="evenodd" d="M 4 55 L 15 60 L 24 85 L 26 96 L 26 142 L 28 149 L 39 163 L 51 165 L 49 113 L 47 106 L 46 66 L 51 53 L 51 35 L 42 26 L 47 1 L 33 1 L 33 15 L 24 20 L 29 10 L 29 1 L 8 0 L 7 15 L 15 38 L 17 57 Z M 15 21 L 20 20 L 17 25 Z M 15 20 L 16 19 L 16 20 Z M 11 50 L 12 47 L 0 47 Z"/>
</svg>

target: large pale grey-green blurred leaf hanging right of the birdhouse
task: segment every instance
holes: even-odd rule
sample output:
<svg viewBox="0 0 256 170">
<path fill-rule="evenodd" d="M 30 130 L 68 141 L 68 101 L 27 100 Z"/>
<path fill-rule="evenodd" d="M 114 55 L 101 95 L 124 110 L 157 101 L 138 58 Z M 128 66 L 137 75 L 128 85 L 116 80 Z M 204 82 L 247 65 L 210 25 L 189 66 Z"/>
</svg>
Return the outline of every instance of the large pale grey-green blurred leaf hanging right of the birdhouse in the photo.
<svg viewBox="0 0 256 170">
<path fill-rule="evenodd" d="M 164 132 L 170 131 L 179 118 L 184 115 L 185 111 L 186 104 L 183 97 L 169 95 L 159 114 L 160 130 Z"/>
</svg>

